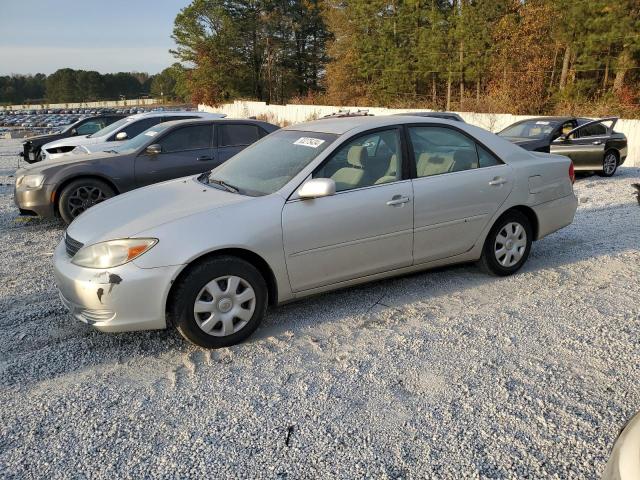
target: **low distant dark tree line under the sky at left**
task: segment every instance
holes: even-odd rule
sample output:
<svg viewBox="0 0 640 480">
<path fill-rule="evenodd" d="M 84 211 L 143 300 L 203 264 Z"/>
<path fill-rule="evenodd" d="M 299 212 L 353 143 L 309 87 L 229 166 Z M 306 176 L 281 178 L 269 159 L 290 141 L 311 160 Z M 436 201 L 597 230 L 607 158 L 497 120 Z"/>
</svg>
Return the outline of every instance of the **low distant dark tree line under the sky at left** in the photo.
<svg viewBox="0 0 640 480">
<path fill-rule="evenodd" d="M 0 103 L 76 103 L 153 96 L 185 100 L 189 94 L 177 86 L 180 65 L 172 65 L 157 75 L 142 72 L 102 74 L 63 68 L 51 75 L 0 76 Z"/>
</svg>

